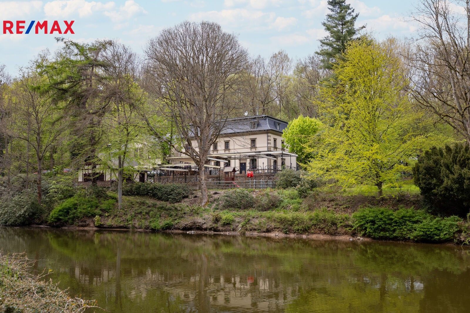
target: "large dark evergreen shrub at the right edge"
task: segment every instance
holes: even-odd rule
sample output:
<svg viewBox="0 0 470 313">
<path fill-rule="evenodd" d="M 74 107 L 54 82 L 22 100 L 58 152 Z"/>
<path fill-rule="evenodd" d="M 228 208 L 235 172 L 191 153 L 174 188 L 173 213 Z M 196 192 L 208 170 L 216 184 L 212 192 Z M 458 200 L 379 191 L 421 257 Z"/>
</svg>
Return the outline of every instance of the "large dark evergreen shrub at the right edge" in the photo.
<svg viewBox="0 0 470 313">
<path fill-rule="evenodd" d="M 416 186 L 434 213 L 465 217 L 470 209 L 470 147 L 433 147 L 413 167 Z"/>
</svg>

